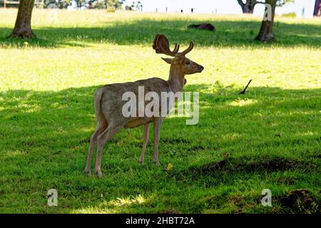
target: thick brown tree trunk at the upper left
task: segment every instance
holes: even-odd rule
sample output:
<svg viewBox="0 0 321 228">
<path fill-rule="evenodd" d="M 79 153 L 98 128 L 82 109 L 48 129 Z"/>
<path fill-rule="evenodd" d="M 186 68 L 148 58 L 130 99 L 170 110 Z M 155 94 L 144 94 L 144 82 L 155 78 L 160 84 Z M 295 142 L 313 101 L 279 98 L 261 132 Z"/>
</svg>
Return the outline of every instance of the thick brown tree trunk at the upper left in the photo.
<svg viewBox="0 0 321 228">
<path fill-rule="evenodd" d="M 16 24 L 10 37 L 34 37 L 34 32 L 31 29 L 32 9 L 34 9 L 34 0 L 20 0 Z"/>
</svg>

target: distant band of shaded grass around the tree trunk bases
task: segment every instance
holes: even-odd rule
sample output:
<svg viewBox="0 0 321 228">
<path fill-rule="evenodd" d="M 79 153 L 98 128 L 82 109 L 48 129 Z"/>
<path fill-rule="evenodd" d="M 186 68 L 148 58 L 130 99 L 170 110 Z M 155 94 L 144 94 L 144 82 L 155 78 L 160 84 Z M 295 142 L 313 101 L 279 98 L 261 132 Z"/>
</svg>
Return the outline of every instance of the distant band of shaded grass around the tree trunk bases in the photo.
<svg viewBox="0 0 321 228">
<path fill-rule="evenodd" d="M 90 43 L 115 43 L 118 45 L 151 46 L 157 33 L 164 33 L 170 41 L 188 44 L 194 41 L 197 46 L 223 47 L 262 47 L 262 46 L 321 46 L 320 29 L 317 24 L 286 24 L 276 22 L 275 43 L 254 41 L 260 28 L 260 21 L 208 21 L 217 27 L 217 31 L 199 31 L 187 28 L 195 21 L 137 20 L 132 23 L 116 22 L 113 26 L 77 27 L 77 28 L 34 28 L 38 38 L 29 39 L 29 46 L 56 48 L 60 46 L 85 47 Z M 24 40 L 5 38 L 11 32 L 9 28 L 0 28 L 0 46 L 3 48 L 22 47 Z"/>
</svg>

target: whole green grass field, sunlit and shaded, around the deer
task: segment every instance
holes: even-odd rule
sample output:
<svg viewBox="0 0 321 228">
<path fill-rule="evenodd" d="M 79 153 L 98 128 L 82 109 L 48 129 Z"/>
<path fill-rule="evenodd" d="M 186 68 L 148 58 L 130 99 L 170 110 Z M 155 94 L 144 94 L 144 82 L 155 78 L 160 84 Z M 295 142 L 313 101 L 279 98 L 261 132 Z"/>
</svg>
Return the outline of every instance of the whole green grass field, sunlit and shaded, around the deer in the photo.
<svg viewBox="0 0 321 228">
<path fill-rule="evenodd" d="M 6 38 L 15 16 L 0 9 L 1 213 L 320 212 L 320 19 L 277 17 L 277 42 L 258 43 L 253 16 L 35 10 L 37 38 L 24 41 Z M 198 21 L 217 31 L 186 28 Z M 86 177 L 93 92 L 167 78 L 151 48 L 156 33 L 195 43 L 188 58 L 205 70 L 184 90 L 200 93 L 200 122 L 164 121 L 161 167 L 153 140 L 138 164 L 141 128 L 132 138 L 123 130 L 104 147 L 104 176 Z M 50 189 L 58 207 L 47 205 Z M 260 203 L 263 189 L 272 207 Z M 289 195 L 302 189 L 309 204 Z"/>
</svg>

